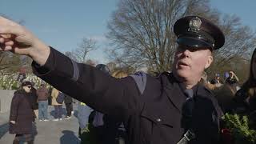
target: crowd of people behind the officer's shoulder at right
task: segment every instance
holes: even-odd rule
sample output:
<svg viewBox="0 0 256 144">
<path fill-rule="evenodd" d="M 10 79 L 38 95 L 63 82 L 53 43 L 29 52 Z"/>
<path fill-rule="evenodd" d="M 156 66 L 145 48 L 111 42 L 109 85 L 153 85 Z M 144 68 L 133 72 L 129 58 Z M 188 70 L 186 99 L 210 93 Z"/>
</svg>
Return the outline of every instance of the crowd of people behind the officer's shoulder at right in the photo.
<svg viewBox="0 0 256 144">
<path fill-rule="evenodd" d="M 249 78 L 241 84 L 239 78 L 234 71 L 230 70 L 223 74 L 215 74 L 210 81 L 207 80 L 206 73 L 202 74 L 201 82 L 213 91 L 218 104 L 222 108 L 222 112 L 229 114 L 242 114 L 249 116 L 252 127 L 256 127 L 256 49 L 252 54 L 250 61 Z"/>
</svg>

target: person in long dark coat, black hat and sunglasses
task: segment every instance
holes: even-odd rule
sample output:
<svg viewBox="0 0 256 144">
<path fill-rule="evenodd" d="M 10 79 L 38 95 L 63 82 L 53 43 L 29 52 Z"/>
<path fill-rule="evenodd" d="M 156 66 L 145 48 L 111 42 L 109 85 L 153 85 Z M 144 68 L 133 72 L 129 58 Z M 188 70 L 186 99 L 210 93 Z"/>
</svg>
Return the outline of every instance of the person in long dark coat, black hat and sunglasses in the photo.
<svg viewBox="0 0 256 144">
<path fill-rule="evenodd" d="M 34 143 L 32 136 L 32 122 L 34 112 L 30 98 L 31 82 L 22 82 L 22 89 L 14 92 L 10 106 L 10 134 L 16 134 L 14 144 L 18 144 L 24 137 L 28 144 Z"/>
</svg>

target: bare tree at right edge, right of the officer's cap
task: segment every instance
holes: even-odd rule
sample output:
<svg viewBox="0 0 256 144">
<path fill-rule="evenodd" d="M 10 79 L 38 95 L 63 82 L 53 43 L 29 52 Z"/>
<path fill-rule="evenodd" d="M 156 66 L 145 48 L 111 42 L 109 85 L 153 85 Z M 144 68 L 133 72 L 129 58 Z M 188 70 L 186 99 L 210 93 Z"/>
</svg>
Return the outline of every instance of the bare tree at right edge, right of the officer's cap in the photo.
<svg viewBox="0 0 256 144">
<path fill-rule="evenodd" d="M 240 78 L 248 76 L 252 50 L 256 48 L 254 30 L 242 26 L 240 18 L 225 14 L 218 21 L 225 34 L 226 42 L 222 49 L 214 51 L 214 62 L 207 70 L 208 74 L 235 70 Z"/>
</svg>

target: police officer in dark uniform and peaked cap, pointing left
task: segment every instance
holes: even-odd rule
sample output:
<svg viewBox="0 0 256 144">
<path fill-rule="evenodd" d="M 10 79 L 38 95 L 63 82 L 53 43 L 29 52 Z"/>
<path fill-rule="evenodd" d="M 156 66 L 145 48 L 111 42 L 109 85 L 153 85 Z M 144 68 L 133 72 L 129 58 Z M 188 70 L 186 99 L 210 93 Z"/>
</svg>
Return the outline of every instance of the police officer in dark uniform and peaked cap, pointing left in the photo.
<svg viewBox="0 0 256 144">
<path fill-rule="evenodd" d="M 158 78 L 138 73 L 110 78 L 101 70 L 70 60 L 24 27 L 0 18 L 2 50 L 33 58 L 34 74 L 103 114 L 124 122 L 130 143 L 218 143 L 218 102 L 198 84 L 225 42 L 218 26 L 188 16 L 174 24 L 178 47 L 172 73 Z M 69 89 L 66 89 L 69 86 Z"/>
</svg>

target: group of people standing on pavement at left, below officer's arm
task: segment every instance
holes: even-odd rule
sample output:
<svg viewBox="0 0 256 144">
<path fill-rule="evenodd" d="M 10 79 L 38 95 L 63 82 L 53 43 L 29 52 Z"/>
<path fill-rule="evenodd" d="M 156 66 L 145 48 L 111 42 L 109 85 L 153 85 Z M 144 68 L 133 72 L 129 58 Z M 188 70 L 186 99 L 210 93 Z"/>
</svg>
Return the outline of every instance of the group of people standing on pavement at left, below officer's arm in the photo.
<svg viewBox="0 0 256 144">
<path fill-rule="evenodd" d="M 62 103 L 56 102 L 56 97 L 61 93 L 55 88 L 48 90 L 46 82 L 42 82 L 36 89 L 34 83 L 23 79 L 21 87 L 14 92 L 10 105 L 10 134 L 16 134 L 14 143 L 18 144 L 22 138 L 28 143 L 34 143 L 34 130 L 32 127 L 38 122 L 48 122 L 48 104 L 54 106 L 55 114 L 52 121 L 62 120 Z M 50 99 L 50 101 L 49 101 Z M 65 96 L 66 117 L 70 118 L 73 112 L 72 98 Z"/>
</svg>

